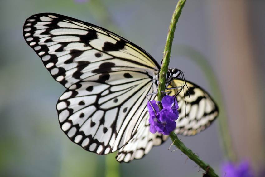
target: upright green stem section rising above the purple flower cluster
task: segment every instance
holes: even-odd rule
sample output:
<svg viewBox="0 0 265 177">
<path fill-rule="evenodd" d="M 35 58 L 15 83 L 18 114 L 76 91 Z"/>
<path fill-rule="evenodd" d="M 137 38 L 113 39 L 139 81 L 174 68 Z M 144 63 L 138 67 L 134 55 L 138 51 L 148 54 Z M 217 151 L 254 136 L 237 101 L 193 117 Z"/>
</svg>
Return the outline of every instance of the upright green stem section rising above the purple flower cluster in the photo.
<svg viewBox="0 0 265 177">
<path fill-rule="evenodd" d="M 170 58 L 171 46 L 172 46 L 172 42 L 174 38 L 174 32 L 176 29 L 176 23 L 181 14 L 181 9 L 184 7 L 185 2 L 186 0 L 179 0 L 175 8 L 175 11 L 173 13 L 170 25 L 169 25 L 163 61 L 162 61 L 161 70 L 159 73 L 159 83 L 158 83 L 158 92 L 157 92 L 158 101 L 161 101 L 162 98 L 164 97 L 164 91 L 166 89 L 166 73 L 167 73 L 168 65 L 169 65 L 169 58 Z M 159 106 L 161 106 L 161 104 Z M 160 107 L 160 110 L 161 109 L 162 107 Z"/>
</svg>

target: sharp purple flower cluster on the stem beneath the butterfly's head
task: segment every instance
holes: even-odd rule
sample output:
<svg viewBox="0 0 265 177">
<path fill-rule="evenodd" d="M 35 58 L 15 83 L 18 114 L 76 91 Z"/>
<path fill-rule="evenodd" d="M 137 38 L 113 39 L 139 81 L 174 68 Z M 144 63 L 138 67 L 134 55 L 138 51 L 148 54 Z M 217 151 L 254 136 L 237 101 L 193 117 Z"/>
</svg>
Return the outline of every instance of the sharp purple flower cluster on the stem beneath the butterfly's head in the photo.
<svg viewBox="0 0 265 177">
<path fill-rule="evenodd" d="M 175 120 L 178 119 L 179 117 L 179 112 L 178 112 L 178 103 L 177 100 L 172 96 L 166 95 L 161 103 L 163 106 L 163 109 L 160 111 L 158 108 L 158 105 L 156 104 L 155 100 L 150 101 L 154 109 L 156 110 L 156 115 L 155 112 L 150 105 L 150 103 L 147 103 L 147 110 L 149 112 L 150 118 L 149 118 L 149 123 L 150 123 L 150 132 L 151 133 L 162 133 L 164 135 L 169 135 L 170 132 L 172 132 L 176 128 L 176 122 Z M 158 101 L 159 103 L 159 101 Z M 157 116 L 157 120 L 156 120 Z M 159 123 L 160 122 L 160 123 Z"/>
</svg>

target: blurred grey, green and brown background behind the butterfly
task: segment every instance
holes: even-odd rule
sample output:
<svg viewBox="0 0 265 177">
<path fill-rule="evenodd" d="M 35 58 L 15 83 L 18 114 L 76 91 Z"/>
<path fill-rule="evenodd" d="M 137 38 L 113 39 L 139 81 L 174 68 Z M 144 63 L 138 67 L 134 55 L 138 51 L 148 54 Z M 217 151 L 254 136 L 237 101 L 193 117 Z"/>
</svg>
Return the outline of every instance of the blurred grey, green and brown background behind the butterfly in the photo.
<svg viewBox="0 0 265 177">
<path fill-rule="evenodd" d="M 26 44 L 22 29 L 28 17 L 53 12 L 93 23 L 160 62 L 176 4 L 0 0 L 0 176 L 104 176 L 105 156 L 83 150 L 60 130 L 55 105 L 65 88 Z M 265 1 L 258 0 L 187 0 L 177 23 L 170 67 L 181 69 L 187 80 L 208 91 L 221 111 L 219 120 L 199 135 L 179 138 L 218 174 L 220 164 L 229 158 L 247 159 L 256 176 L 264 174 L 264 9 Z M 228 129 L 223 126 L 220 133 L 225 120 Z M 121 164 L 120 175 L 202 176 L 181 151 L 167 150 L 170 143 L 153 147 L 141 160 Z M 224 148 L 228 146 L 230 155 Z"/>
</svg>

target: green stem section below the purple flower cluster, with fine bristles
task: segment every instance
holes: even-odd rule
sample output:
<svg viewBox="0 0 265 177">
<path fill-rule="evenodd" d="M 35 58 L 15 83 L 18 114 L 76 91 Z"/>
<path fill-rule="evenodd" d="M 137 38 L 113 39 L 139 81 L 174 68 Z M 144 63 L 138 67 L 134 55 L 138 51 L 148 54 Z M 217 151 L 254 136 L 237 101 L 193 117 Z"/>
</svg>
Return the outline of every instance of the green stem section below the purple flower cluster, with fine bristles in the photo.
<svg viewBox="0 0 265 177">
<path fill-rule="evenodd" d="M 202 161 L 198 155 L 193 153 L 189 148 L 187 148 L 177 137 L 177 135 L 174 132 L 171 132 L 169 137 L 171 138 L 172 142 L 176 147 L 181 150 L 185 155 L 188 156 L 188 158 L 192 161 L 194 161 L 197 165 L 199 165 L 200 168 L 202 168 L 205 171 L 208 171 L 208 175 L 211 177 L 218 177 L 218 175 L 214 172 L 214 169 L 210 167 L 209 164 Z"/>
</svg>

